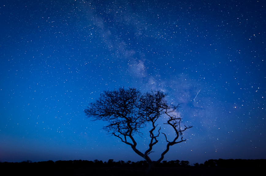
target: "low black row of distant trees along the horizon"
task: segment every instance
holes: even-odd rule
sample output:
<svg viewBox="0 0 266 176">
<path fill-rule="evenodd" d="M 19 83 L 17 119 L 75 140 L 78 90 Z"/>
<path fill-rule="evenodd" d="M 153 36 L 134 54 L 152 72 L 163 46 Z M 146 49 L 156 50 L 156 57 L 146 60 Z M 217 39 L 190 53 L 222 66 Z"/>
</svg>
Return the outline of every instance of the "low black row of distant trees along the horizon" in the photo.
<svg viewBox="0 0 266 176">
<path fill-rule="evenodd" d="M 99 160 L 88 161 L 88 160 L 69 160 L 69 161 L 43 161 L 34 162 L 30 160 L 23 161 L 21 163 L 0 163 L 1 167 L 10 166 L 23 166 L 23 167 L 55 167 L 55 168 L 87 168 L 87 167 L 148 167 L 149 164 L 146 161 L 118 161 L 115 162 L 113 159 L 109 159 L 108 162 Z M 156 167 L 190 167 L 188 161 L 162 161 L 158 163 Z M 266 167 L 266 159 L 209 159 L 204 164 L 195 163 L 194 167 Z"/>
</svg>

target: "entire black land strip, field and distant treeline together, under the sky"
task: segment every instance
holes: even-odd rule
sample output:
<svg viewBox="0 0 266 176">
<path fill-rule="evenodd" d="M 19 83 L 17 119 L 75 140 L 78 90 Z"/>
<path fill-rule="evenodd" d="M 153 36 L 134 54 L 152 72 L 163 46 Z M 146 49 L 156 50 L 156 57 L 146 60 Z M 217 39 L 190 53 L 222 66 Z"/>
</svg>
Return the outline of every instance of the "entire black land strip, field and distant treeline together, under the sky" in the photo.
<svg viewBox="0 0 266 176">
<path fill-rule="evenodd" d="M 204 164 L 189 166 L 188 161 L 163 161 L 157 163 L 148 174 L 146 161 L 108 162 L 99 160 L 69 161 L 24 161 L 21 163 L 0 163 L 1 175 L 88 175 L 88 176 L 174 176 L 174 175 L 261 175 L 265 173 L 266 159 L 209 159 Z"/>
</svg>

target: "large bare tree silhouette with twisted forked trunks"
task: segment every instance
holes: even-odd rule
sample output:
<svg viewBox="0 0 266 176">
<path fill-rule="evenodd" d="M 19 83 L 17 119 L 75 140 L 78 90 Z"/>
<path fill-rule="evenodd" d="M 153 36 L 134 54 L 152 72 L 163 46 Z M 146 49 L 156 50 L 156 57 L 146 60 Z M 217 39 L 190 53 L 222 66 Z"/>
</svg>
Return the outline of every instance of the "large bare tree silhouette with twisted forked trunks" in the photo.
<svg viewBox="0 0 266 176">
<path fill-rule="evenodd" d="M 149 163 L 149 168 L 151 168 L 154 166 L 154 162 L 148 155 L 152 152 L 153 146 L 158 143 L 162 125 L 168 125 L 172 128 L 176 136 L 169 140 L 167 135 L 162 132 L 167 145 L 161 157 L 155 163 L 162 161 L 170 146 L 184 142 L 182 132 L 192 128 L 192 126 L 181 128 L 181 117 L 176 115 L 179 105 L 173 105 L 172 103 L 168 105 L 165 96 L 166 94 L 162 91 L 151 91 L 142 94 L 135 88 L 125 89 L 123 87 L 119 90 L 104 91 L 100 98 L 90 103 L 88 109 L 85 109 L 84 112 L 87 117 L 92 117 L 93 121 L 106 121 L 108 125 L 104 126 L 103 129 L 130 145 L 135 153 Z M 159 125 L 156 123 L 159 118 L 167 120 Z M 141 152 L 136 148 L 135 137 L 142 136 L 140 129 L 146 127 L 147 124 L 151 124 L 149 148 Z"/>
</svg>

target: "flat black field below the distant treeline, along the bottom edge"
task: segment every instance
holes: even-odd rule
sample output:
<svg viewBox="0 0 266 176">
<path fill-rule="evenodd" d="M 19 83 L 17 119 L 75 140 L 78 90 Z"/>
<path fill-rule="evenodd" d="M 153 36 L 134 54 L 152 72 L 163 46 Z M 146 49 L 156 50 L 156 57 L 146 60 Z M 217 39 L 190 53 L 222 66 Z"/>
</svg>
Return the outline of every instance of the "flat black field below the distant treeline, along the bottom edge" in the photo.
<svg viewBox="0 0 266 176">
<path fill-rule="evenodd" d="M 15 165 L 15 164 L 14 164 Z M 1 175 L 88 175 L 88 176 L 142 176 L 148 175 L 143 167 L 89 167 L 89 168 L 54 168 L 54 167 L 1 167 Z M 209 168 L 209 167 L 158 167 L 150 175 L 261 175 L 263 168 Z"/>
</svg>

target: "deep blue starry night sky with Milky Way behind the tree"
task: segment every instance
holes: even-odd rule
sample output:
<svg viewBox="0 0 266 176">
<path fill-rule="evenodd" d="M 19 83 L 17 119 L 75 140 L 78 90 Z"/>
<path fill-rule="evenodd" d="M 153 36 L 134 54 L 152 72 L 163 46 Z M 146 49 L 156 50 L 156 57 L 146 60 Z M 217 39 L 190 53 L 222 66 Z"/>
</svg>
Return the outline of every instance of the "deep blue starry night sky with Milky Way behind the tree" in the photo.
<svg viewBox="0 0 266 176">
<path fill-rule="evenodd" d="M 2 0 L 0 161 L 143 160 L 83 112 L 123 86 L 164 91 L 181 103 L 182 125 L 194 125 L 164 160 L 266 159 L 265 7 L 264 0 Z M 137 148 L 147 141 L 139 138 Z M 158 143 L 151 159 L 165 146 Z"/>
</svg>

